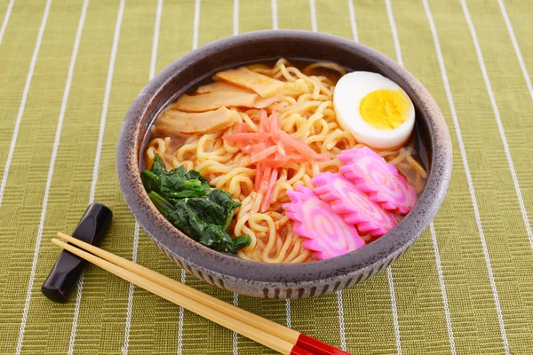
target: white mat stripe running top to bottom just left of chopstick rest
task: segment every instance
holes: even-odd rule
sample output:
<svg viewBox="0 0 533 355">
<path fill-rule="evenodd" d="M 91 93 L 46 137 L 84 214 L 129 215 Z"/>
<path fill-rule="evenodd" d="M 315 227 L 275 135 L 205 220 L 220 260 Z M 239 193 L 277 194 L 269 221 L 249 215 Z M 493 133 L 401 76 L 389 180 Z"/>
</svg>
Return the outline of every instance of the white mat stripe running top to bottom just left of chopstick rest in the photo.
<svg viewBox="0 0 533 355">
<path fill-rule="evenodd" d="M 48 17 L 48 12 L 50 10 L 51 3 L 52 1 L 49 1 L 46 4 L 46 8 L 44 10 L 43 24 L 41 25 L 42 31 L 44 31 L 44 25 Z M 55 167 L 55 160 L 56 160 L 56 156 L 58 154 L 58 149 L 60 146 L 61 130 L 63 129 L 63 119 L 65 118 L 65 111 L 67 110 L 68 95 L 70 93 L 72 77 L 74 76 L 74 68 L 76 67 L 76 57 L 77 57 L 77 52 L 78 52 L 78 48 L 80 45 L 80 41 L 82 38 L 82 31 L 84 29 L 85 15 L 87 13 L 88 5 L 89 5 L 89 0 L 84 0 L 84 5 L 82 7 L 82 13 L 80 15 L 80 20 L 78 21 L 76 39 L 74 41 L 74 47 L 72 49 L 72 55 L 70 57 L 70 65 L 68 66 L 67 82 L 65 83 L 65 91 L 63 91 L 63 99 L 61 101 L 60 116 L 58 118 L 58 124 L 56 127 L 55 137 L 53 141 L 52 155 L 50 157 L 50 165 L 48 168 L 48 176 L 46 177 L 46 185 L 44 187 L 43 207 L 41 209 L 41 219 L 39 221 L 39 228 L 37 230 L 36 247 L 34 249 L 33 263 L 31 265 L 31 272 L 29 275 L 28 289 L 26 291 L 26 302 L 24 304 L 24 311 L 22 312 L 22 320 L 20 322 L 19 341 L 17 342 L 17 350 L 15 351 L 17 355 L 20 354 L 20 351 L 22 350 L 22 342 L 24 341 L 24 332 L 26 331 L 26 321 L 28 319 L 29 304 L 31 302 L 32 290 L 33 290 L 34 280 L 36 276 L 37 262 L 39 259 L 39 250 L 41 248 L 41 240 L 43 239 L 44 220 L 46 218 L 48 196 L 50 193 L 50 186 L 52 185 L 53 170 Z M 42 37 L 42 33 L 40 36 Z"/>
</svg>

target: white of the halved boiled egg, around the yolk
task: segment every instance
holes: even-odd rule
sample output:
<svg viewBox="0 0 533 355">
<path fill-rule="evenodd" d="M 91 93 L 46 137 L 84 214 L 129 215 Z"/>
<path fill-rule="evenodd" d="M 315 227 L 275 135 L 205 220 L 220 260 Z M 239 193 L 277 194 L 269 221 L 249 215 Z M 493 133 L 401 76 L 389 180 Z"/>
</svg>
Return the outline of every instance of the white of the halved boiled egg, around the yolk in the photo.
<svg viewBox="0 0 533 355">
<path fill-rule="evenodd" d="M 372 91 L 400 89 L 405 97 L 409 96 L 392 80 L 371 72 L 352 72 L 343 75 L 335 86 L 333 104 L 338 124 L 352 132 L 355 139 L 376 149 L 394 149 L 404 145 L 410 138 L 415 125 L 415 107 L 410 101 L 408 119 L 394 130 L 378 130 L 362 119 L 359 111 L 362 99 Z"/>
</svg>

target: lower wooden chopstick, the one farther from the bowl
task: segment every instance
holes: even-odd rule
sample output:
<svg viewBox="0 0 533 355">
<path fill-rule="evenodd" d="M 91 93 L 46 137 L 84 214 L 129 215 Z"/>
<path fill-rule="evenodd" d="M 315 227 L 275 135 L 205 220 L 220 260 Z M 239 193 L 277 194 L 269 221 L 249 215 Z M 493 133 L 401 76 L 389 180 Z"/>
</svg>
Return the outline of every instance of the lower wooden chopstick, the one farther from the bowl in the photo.
<svg viewBox="0 0 533 355">
<path fill-rule="evenodd" d="M 283 355 L 316 355 L 314 352 L 301 349 L 298 346 L 293 345 L 275 335 L 265 332 L 264 330 L 251 327 L 249 324 L 246 324 L 238 319 L 233 319 L 227 314 L 213 310 L 204 304 L 200 304 L 199 302 L 180 295 L 169 288 L 165 288 L 152 280 L 148 280 L 134 272 L 128 271 L 116 264 L 112 264 L 100 258 L 99 256 L 94 256 L 90 253 L 87 253 L 81 248 L 76 248 L 55 238 L 52 239 L 52 243 L 68 250 L 72 254 L 76 254 L 76 256 L 84 258 L 85 260 L 101 267 L 104 270 L 107 270 L 108 272 L 115 274 L 123 280 L 131 282 L 139 288 L 144 288 L 157 296 L 161 296 L 164 299 L 171 301 L 173 304 L 178 304 L 190 312 L 194 312 L 205 319 L 210 319 L 222 327 L 227 327 L 228 329 L 233 330 L 240 335 L 246 336 L 257 343 L 261 343 L 268 348 L 273 349 L 274 351 L 278 351 Z"/>
</svg>

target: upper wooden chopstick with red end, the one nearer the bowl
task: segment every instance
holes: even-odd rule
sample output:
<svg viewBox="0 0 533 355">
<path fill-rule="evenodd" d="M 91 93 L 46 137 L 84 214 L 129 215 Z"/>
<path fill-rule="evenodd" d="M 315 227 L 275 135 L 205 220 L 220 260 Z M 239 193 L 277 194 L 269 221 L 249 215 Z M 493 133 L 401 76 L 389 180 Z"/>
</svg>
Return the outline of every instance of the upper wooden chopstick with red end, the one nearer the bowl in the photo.
<svg viewBox="0 0 533 355">
<path fill-rule="evenodd" d="M 186 296 L 187 298 L 211 308 L 212 310 L 224 313 L 232 319 L 237 319 L 251 327 L 258 328 L 270 335 L 274 335 L 290 344 L 296 345 L 298 348 L 312 351 L 316 355 L 349 355 L 346 351 L 341 351 L 327 343 L 322 343 L 310 336 L 299 333 L 294 329 L 283 327 L 281 324 L 262 318 L 257 314 L 244 311 L 241 308 L 235 307 L 233 304 L 227 304 L 226 302 L 219 300 L 219 298 L 206 295 L 195 288 L 190 288 L 177 280 L 168 278 L 158 272 L 154 272 L 144 266 L 124 259 L 123 257 L 115 256 L 115 254 L 109 253 L 106 250 L 94 247 L 91 244 L 80 241 L 64 233 L 58 233 L 57 235 L 71 244 L 84 248 L 95 256 L 100 256 L 108 262 L 121 266 L 130 272 L 163 286 L 164 288 L 169 288 L 182 296 Z"/>
</svg>

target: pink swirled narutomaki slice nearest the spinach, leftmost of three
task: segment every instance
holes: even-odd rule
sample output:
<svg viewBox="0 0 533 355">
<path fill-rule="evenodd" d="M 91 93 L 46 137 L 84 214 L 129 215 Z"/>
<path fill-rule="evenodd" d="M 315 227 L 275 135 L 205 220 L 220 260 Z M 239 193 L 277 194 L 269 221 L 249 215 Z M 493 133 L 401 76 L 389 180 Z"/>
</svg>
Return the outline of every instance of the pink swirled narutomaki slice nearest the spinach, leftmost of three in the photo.
<svg viewBox="0 0 533 355">
<path fill-rule="evenodd" d="M 290 202 L 283 204 L 283 209 L 294 221 L 294 233 L 306 239 L 302 245 L 313 250 L 318 260 L 341 256 L 364 246 L 354 225 L 348 225 L 310 188 L 299 186 L 298 191 L 287 191 L 287 194 Z"/>
</svg>

